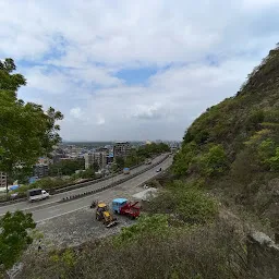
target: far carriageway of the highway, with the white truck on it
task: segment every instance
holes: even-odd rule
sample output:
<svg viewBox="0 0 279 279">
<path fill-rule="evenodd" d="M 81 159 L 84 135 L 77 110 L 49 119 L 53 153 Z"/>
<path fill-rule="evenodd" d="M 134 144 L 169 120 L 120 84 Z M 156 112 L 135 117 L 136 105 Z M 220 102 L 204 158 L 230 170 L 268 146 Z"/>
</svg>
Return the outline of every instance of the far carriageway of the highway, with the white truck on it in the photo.
<svg viewBox="0 0 279 279">
<path fill-rule="evenodd" d="M 166 156 L 166 154 L 160 155 L 160 156 L 154 158 L 153 159 L 153 163 L 158 162 L 165 156 Z M 146 165 L 140 166 L 138 168 L 135 168 L 135 169 L 131 170 L 131 174 L 136 173 L 136 172 L 138 172 L 141 170 L 144 170 L 148 166 L 146 166 Z M 15 203 L 15 204 L 7 205 L 7 206 L 1 206 L 0 207 L 0 216 L 4 215 L 7 211 L 12 211 L 13 213 L 16 209 L 20 209 L 20 210 L 32 210 L 33 211 L 33 209 L 36 210 L 36 207 L 41 207 L 41 206 L 45 206 L 45 205 L 46 206 L 56 205 L 57 202 L 59 202 L 62 197 L 70 196 L 70 195 L 75 195 L 75 194 L 83 193 L 83 192 L 90 191 L 90 190 L 98 189 L 98 187 L 102 187 L 102 186 L 106 186 L 106 185 L 108 185 L 108 184 L 110 184 L 112 182 L 119 181 L 119 180 L 121 180 L 123 178 L 126 178 L 126 175 L 125 174 L 119 174 L 119 175 L 116 175 L 116 177 L 110 178 L 108 180 L 105 180 L 105 181 L 101 181 L 101 182 L 98 182 L 98 183 L 95 183 L 95 184 L 92 184 L 92 185 L 88 185 L 88 186 L 84 186 L 84 187 L 81 187 L 81 189 L 68 191 L 68 192 L 60 193 L 60 194 L 56 194 L 56 195 L 51 196 L 49 199 L 47 199 L 47 201 L 39 201 L 39 202 L 36 202 L 36 203 L 21 202 L 21 203 Z"/>
</svg>

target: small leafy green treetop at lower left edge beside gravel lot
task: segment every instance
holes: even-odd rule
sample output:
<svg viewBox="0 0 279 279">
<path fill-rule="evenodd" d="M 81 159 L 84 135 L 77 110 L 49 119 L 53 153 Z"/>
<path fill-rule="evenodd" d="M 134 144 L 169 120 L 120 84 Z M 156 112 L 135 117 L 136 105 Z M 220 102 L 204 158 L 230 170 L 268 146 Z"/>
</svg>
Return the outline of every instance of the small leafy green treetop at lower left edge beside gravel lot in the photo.
<svg viewBox="0 0 279 279">
<path fill-rule="evenodd" d="M 11 268 L 27 245 L 32 244 L 33 239 L 28 231 L 35 228 L 36 223 L 29 213 L 8 211 L 0 219 L 0 265 L 3 271 Z"/>
</svg>

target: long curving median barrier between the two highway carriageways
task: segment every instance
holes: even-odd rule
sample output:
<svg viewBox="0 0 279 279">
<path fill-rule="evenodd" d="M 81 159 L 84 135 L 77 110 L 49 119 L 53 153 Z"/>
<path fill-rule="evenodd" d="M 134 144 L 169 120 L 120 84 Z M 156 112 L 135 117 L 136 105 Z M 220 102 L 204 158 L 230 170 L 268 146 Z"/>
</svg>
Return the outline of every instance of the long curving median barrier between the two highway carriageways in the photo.
<svg viewBox="0 0 279 279">
<path fill-rule="evenodd" d="M 129 180 L 131 180 L 131 179 L 133 179 L 133 178 L 135 178 L 135 177 L 137 177 L 137 175 L 140 175 L 140 174 L 142 174 L 142 173 L 144 173 L 144 172 L 146 172 L 146 171 L 148 171 L 150 169 L 153 169 L 154 167 L 156 167 L 156 166 L 160 165 L 161 162 L 163 162 L 168 157 L 169 157 L 169 155 L 166 155 L 162 159 L 160 159 L 159 161 L 157 161 L 153 166 L 149 166 L 146 169 L 141 170 L 141 171 L 134 173 L 134 174 L 130 174 L 129 177 L 126 177 L 124 179 L 121 179 L 119 181 L 116 181 L 116 182 L 110 183 L 110 184 L 108 184 L 106 186 L 102 186 L 102 187 L 98 187 L 98 189 L 95 189 L 95 190 L 92 190 L 92 191 L 86 191 L 86 192 L 81 193 L 81 194 L 75 194 L 75 195 L 70 195 L 70 196 L 63 197 L 60 202 L 63 203 L 63 202 L 69 202 L 69 201 L 77 199 L 77 198 L 81 198 L 81 197 L 84 197 L 84 196 L 93 195 L 93 194 L 102 192 L 105 190 L 114 187 L 114 186 L 117 186 L 119 184 L 122 184 L 123 182 L 126 182 L 126 181 L 129 181 Z"/>
</svg>

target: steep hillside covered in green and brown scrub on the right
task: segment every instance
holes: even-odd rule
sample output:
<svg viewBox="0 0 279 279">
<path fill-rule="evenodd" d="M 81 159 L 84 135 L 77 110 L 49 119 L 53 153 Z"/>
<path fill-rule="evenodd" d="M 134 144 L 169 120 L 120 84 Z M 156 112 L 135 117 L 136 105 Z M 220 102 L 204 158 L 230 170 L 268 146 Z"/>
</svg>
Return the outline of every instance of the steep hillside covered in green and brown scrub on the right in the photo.
<svg viewBox="0 0 279 279">
<path fill-rule="evenodd" d="M 187 129 L 173 171 L 226 190 L 227 203 L 231 197 L 278 227 L 279 47 L 248 74 L 235 96 L 208 108 Z"/>
</svg>

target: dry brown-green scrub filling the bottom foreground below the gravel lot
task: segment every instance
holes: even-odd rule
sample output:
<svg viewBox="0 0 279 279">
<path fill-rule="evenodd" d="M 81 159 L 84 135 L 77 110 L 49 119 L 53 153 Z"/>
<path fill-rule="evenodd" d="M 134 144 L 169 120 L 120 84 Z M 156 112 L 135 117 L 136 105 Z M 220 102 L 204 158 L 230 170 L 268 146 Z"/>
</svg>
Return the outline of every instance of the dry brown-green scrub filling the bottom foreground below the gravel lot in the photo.
<svg viewBox="0 0 279 279">
<path fill-rule="evenodd" d="M 98 245 L 88 243 L 82 252 L 57 254 L 56 260 L 53 253 L 35 253 L 26 258 L 21 278 L 246 278 L 245 243 L 233 233 L 233 227 L 222 221 L 168 236 L 148 235 L 118 247 L 109 240 Z"/>
</svg>

